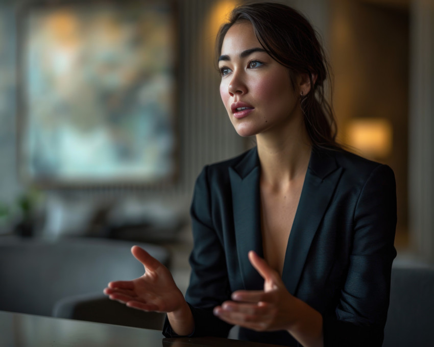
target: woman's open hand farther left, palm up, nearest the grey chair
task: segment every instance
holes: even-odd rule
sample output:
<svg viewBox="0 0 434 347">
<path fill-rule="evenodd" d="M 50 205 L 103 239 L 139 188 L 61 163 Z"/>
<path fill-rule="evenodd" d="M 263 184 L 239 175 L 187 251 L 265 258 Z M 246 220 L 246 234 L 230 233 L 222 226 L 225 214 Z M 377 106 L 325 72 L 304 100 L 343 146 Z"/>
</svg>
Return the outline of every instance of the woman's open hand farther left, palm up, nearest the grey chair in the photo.
<svg viewBox="0 0 434 347">
<path fill-rule="evenodd" d="M 186 302 L 170 271 L 139 246 L 131 249 L 145 269 L 143 276 L 132 281 L 114 281 L 104 293 L 111 300 L 143 311 L 176 312 L 184 310 Z"/>
</svg>

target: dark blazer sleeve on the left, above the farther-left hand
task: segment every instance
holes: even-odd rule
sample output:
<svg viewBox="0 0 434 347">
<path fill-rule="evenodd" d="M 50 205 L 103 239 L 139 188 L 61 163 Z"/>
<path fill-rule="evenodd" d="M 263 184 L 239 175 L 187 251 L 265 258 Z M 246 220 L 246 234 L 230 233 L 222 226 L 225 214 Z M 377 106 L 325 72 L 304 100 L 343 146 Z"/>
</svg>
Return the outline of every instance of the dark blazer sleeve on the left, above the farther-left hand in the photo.
<svg viewBox="0 0 434 347">
<path fill-rule="evenodd" d="M 189 336 L 227 337 L 232 326 L 212 313 L 215 306 L 230 300 L 231 293 L 222 234 L 213 228 L 207 172 L 208 166 L 205 166 L 196 181 L 190 208 L 194 246 L 189 258 L 191 275 L 185 300 L 193 314 L 195 330 Z M 167 318 L 163 334 L 178 336 Z"/>
</svg>

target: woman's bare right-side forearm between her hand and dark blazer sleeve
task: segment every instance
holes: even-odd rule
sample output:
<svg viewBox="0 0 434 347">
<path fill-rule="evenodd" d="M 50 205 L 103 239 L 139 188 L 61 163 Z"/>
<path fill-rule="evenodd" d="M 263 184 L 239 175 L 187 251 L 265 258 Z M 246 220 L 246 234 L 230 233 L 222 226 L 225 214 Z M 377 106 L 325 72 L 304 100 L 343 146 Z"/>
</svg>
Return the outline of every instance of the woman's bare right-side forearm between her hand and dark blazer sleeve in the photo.
<svg viewBox="0 0 434 347">
<path fill-rule="evenodd" d="M 297 298 L 294 298 L 294 312 L 297 312 L 297 317 L 288 332 L 304 347 L 323 347 L 321 313 Z"/>
</svg>

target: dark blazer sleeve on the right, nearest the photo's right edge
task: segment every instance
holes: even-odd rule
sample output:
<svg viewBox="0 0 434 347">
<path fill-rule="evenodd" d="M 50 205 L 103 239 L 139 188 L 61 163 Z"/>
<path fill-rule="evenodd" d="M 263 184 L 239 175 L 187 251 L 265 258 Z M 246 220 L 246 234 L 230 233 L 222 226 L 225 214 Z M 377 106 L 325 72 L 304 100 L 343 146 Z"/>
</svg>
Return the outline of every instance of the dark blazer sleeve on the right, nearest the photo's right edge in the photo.
<svg viewBox="0 0 434 347">
<path fill-rule="evenodd" d="M 381 346 L 390 296 L 396 230 L 392 169 L 377 166 L 355 205 L 346 281 L 332 317 L 323 316 L 325 346 Z"/>
</svg>

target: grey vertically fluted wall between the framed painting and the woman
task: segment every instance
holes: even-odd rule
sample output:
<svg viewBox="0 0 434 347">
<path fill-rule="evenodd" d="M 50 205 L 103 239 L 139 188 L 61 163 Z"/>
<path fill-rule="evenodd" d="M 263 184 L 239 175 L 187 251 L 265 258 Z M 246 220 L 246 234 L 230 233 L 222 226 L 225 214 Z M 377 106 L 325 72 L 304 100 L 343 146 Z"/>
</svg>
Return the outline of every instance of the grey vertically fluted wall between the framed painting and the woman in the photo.
<svg viewBox="0 0 434 347">
<path fill-rule="evenodd" d="M 215 2 L 178 2 L 179 13 L 179 180 L 174 191 L 160 191 L 189 200 L 205 164 L 241 153 L 244 141 L 233 130 L 220 100 L 206 18 Z M 211 43 L 211 44 L 210 44 Z M 175 195 L 175 196 L 174 196 Z"/>
</svg>

